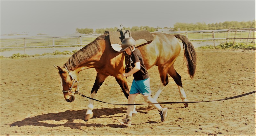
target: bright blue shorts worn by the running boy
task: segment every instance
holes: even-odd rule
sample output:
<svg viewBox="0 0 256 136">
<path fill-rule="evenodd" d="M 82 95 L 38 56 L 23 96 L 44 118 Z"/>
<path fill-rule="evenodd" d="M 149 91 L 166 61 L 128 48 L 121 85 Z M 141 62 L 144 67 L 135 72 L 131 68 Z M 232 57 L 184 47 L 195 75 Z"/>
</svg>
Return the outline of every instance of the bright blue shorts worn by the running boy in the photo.
<svg viewBox="0 0 256 136">
<path fill-rule="evenodd" d="M 151 95 L 150 83 L 149 78 L 144 80 L 134 80 L 132 81 L 132 87 L 130 90 L 130 95 L 132 94 L 139 94 L 141 93 L 144 96 Z"/>
</svg>

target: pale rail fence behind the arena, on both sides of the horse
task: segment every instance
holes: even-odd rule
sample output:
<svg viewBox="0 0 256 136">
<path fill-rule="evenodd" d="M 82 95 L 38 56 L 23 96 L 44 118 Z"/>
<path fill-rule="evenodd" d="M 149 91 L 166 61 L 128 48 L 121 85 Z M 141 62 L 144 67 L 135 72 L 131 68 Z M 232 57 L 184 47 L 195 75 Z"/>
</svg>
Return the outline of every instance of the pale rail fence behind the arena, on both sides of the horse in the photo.
<svg viewBox="0 0 256 136">
<path fill-rule="evenodd" d="M 216 40 L 224 42 L 249 42 L 255 43 L 256 29 L 222 29 L 222 30 L 202 30 L 202 31 L 177 31 L 165 32 L 168 34 L 182 34 L 188 37 L 191 41 L 212 40 L 215 46 Z M 66 37 L 28 37 L 28 38 L 1 38 L 1 54 L 5 51 L 13 49 L 24 49 L 26 54 L 28 48 L 52 48 L 52 52 L 60 47 L 84 47 L 92 42 L 96 36 L 66 36 Z M 240 39 L 240 41 L 238 41 Z"/>
</svg>

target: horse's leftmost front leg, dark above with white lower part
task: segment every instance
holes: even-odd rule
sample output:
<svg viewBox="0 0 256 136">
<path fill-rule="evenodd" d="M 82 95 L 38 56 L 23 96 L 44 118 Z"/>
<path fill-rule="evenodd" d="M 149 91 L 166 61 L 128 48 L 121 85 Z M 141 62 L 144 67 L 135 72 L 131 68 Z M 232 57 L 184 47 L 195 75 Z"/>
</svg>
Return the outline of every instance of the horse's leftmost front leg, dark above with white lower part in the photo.
<svg viewBox="0 0 256 136">
<path fill-rule="evenodd" d="M 102 83 L 105 81 L 107 77 L 108 75 L 97 73 L 97 76 L 91 91 L 91 98 L 95 98 L 98 89 L 100 88 L 100 86 L 102 85 Z M 93 104 L 94 104 L 94 100 L 90 99 L 88 104 L 88 109 L 85 113 L 85 118 L 84 118 L 85 120 L 88 120 L 93 117 L 93 112 L 92 112 L 94 108 Z"/>
</svg>

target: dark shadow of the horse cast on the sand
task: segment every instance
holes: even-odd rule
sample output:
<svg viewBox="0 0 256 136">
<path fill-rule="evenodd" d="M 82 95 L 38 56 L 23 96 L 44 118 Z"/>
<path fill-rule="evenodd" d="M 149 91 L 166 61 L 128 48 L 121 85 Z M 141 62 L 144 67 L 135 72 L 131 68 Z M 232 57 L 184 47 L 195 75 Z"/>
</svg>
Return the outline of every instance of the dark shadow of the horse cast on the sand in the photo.
<svg viewBox="0 0 256 136">
<path fill-rule="evenodd" d="M 93 113 L 94 116 L 92 118 L 103 118 L 101 117 L 102 115 L 110 116 L 114 115 L 117 113 L 126 113 L 126 108 L 104 108 L 104 109 L 94 109 Z M 70 127 L 70 128 L 75 128 L 78 129 L 81 126 L 96 126 L 96 127 L 101 127 L 101 126 L 110 126 L 110 127 L 122 127 L 122 125 L 116 125 L 116 124 L 108 124 L 108 125 L 102 125 L 99 123 L 91 123 L 91 124 L 85 124 L 85 123 L 74 123 L 73 121 L 75 119 L 82 119 L 84 120 L 86 110 L 79 110 L 79 111 L 64 111 L 64 112 L 59 112 L 59 113 L 47 113 L 43 115 L 38 115 L 35 117 L 29 117 L 25 118 L 22 121 L 17 121 L 12 123 L 10 126 L 25 126 L 25 125 L 34 125 L 34 126 L 45 126 L 45 127 L 57 127 L 57 126 L 64 126 L 64 127 Z M 125 114 L 124 114 L 125 115 Z M 117 117 L 117 116 L 115 116 Z M 61 121 L 61 120 L 68 120 L 64 124 L 49 124 L 49 123 L 44 123 L 41 121 L 45 120 L 54 120 L 54 121 Z"/>
</svg>

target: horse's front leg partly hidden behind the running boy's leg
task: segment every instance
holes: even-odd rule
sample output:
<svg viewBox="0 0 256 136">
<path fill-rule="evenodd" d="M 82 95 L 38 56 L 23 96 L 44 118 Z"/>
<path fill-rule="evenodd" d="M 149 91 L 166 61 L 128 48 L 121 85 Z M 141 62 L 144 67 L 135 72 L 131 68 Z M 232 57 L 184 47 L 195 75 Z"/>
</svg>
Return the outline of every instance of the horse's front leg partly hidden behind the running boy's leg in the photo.
<svg viewBox="0 0 256 136">
<path fill-rule="evenodd" d="M 122 77 L 122 75 L 116 75 L 116 81 L 122 88 L 125 97 L 128 98 L 130 91 L 129 91 L 129 87 L 126 82 L 126 78 Z M 134 105 L 132 115 L 136 116 L 137 114 L 138 114 L 138 112 L 136 111 L 136 106 Z"/>
</svg>

